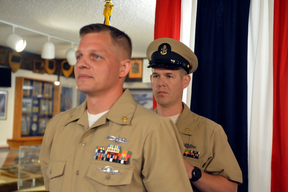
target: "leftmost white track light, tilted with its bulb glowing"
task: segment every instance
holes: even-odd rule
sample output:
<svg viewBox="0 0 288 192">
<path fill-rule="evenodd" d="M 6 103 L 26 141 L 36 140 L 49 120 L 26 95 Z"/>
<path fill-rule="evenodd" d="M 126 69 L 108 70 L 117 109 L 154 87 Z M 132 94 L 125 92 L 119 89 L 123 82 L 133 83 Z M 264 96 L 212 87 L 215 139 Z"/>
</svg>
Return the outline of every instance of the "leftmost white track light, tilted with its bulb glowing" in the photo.
<svg viewBox="0 0 288 192">
<path fill-rule="evenodd" d="M 21 52 L 25 49 L 27 45 L 26 39 L 23 39 L 19 35 L 15 34 L 15 27 L 13 27 L 13 33 L 10 33 L 6 37 L 7 45 L 16 52 Z"/>
</svg>

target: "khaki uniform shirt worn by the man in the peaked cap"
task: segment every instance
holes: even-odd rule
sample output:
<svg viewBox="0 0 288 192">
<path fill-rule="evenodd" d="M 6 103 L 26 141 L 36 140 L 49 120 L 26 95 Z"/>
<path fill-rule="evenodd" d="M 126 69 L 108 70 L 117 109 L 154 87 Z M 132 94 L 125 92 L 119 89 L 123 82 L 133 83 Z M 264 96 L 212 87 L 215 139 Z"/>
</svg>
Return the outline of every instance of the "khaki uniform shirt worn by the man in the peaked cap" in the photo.
<svg viewBox="0 0 288 192">
<path fill-rule="evenodd" d="M 157 108 L 154 111 L 157 111 Z M 241 169 L 221 125 L 193 113 L 183 103 L 183 111 L 176 127 L 183 141 L 180 146 L 181 151 L 187 149 L 183 145 L 185 143 L 196 147 L 188 149 L 196 152 L 195 157 L 184 156 L 190 165 L 200 168 L 205 173 L 221 175 L 237 181 L 238 184 L 242 183 Z M 199 153 L 198 157 L 197 152 Z M 199 191 L 194 185 L 192 188 L 193 191 Z"/>
</svg>

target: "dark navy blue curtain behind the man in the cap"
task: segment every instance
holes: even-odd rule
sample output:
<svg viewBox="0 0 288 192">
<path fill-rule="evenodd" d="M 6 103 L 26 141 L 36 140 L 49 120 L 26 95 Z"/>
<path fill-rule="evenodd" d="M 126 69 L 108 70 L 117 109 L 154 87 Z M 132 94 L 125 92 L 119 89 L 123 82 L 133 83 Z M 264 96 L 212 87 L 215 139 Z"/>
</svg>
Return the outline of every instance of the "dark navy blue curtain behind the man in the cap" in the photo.
<svg viewBox="0 0 288 192">
<path fill-rule="evenodd" d="M 219 123 L 248 191 L 247 38 L 250 0 L 201 0 L 197 5 L 191 111 Z M 225 159 L 224 159 L 225 160 Z M 227 159 L 229 160 L 229 159 Z"/>
</svg>

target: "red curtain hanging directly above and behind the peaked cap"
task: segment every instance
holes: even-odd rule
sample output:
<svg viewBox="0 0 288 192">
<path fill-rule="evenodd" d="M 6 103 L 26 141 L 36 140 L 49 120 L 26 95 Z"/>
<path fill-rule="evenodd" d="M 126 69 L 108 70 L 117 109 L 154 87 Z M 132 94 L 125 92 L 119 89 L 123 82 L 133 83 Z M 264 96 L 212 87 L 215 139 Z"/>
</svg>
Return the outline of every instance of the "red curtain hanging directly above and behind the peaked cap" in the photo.
<svg viewBox="0 0 288 192">
<path fill-rule="evenodd" d="M 154 40 L 169 37 L 180 40 L 181 0 L 156 0 Z M 156 108 L 153 96 L 153 109 Z"/>
</svg>

